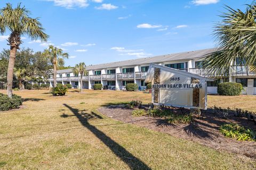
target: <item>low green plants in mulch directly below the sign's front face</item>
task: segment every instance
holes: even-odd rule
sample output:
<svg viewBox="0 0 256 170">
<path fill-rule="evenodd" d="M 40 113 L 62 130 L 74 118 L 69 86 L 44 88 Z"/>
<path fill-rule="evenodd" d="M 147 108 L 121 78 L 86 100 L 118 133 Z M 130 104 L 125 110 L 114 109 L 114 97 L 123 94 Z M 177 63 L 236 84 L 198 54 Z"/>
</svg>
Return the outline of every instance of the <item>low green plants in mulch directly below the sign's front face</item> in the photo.
<svg viewBox="0 0 256 170">
<path fill-rule="evenodd" d="M 149 109 L 150 116 L 157 116 L 164 118 L 168 123 L 190 123 L 193 120 L 191 114 L 173 113 L 171 109 Z"/>
</svg>

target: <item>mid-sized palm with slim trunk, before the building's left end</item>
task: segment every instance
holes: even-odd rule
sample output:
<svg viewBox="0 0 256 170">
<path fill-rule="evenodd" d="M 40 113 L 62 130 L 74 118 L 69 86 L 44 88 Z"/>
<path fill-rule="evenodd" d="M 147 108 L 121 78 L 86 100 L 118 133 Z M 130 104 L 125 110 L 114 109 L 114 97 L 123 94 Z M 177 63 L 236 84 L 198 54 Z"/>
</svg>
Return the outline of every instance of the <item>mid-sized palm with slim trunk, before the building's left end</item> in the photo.
<svg viewBox="0 0 256 170">
<path fill-rule="evenodd" d="M 53 65 L 53 86 L 57 86 L 57 70 L 59 66 L 63 66 L 65 58 L 68 58 L 68 53 L 63 53 L 63 50 L 52 45 L 49 46 L 48 49 L 45 49 L 43 55 L 48 58 Z M 62 57 L 62 58 L 61 58 Z"/>
</svg>

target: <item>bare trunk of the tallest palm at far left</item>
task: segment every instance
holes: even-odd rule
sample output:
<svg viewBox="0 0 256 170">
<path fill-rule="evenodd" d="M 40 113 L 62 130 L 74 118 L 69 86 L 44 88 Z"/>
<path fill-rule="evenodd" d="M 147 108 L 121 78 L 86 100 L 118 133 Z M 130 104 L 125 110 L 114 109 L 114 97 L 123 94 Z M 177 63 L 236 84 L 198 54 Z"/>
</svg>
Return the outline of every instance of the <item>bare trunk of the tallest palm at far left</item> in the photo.
<svg viewBox="0 0 256 170">
<path fill-rule="evenodd" d="M 7 70 L 7 95 L 12 98 L 12 81 L 13 81 L 13 69 L 16 58 L 17 47 L 11 47 L 9 65 Z"/>
</svg>

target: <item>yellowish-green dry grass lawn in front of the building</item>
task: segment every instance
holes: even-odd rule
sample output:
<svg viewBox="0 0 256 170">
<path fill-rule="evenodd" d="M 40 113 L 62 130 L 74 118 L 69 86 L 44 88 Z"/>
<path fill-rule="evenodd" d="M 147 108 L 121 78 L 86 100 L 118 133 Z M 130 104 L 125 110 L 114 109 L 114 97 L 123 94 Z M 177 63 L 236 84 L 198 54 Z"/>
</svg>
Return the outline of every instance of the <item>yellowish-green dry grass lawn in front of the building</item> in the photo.
<svg viewBox="0 0 256 170">
<path fill-rule="evenodd" d="M 70 90 L 67 96 L 53 97 L 49 90 L 14 93 L 25 102 L 21 109 L 0 113 L 0 169 L 256 168 L 254 159 L 124 124 L 97 111 L 107 103 L 132 99 L 147 104 L 150 94 L 108 90 L 80 94 Z M 209 103 L 226 107 L 235 102 L 237 107 L 251 107 L 256 101 L 256 96 L 233 98 L 235 101 L 209 96 Z"/>
</svg>

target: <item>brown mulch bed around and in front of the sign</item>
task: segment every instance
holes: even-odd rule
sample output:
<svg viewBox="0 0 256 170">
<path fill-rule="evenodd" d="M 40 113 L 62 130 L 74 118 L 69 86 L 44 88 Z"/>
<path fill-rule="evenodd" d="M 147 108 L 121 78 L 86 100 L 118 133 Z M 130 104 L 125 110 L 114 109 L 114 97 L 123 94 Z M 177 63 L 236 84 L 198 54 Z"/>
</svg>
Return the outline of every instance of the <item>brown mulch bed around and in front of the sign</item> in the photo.
<svg viewBox="0 0 256 170">
<path fill-rule="evenodd" d="M 115 120 L 125 123 L 136 124 L 155 131 L 164 132 L 174 137 L 195 141 L 217 150 L 225 150 L 239 155 L 244 155 L 256 159 L 256 142 L 237 141 L 225 138 L 219 127 L 225 123 L 237 123 L 252 130 L 256 130 L 254 122 L 243 117 L 229 115 L 227 119 L 213 113 L 204 113 L 203 118 L 195 118 L 189 124 L 170 124 L 159 117 L 132 116 L 132 109 L 125 108 L 124 105 L 112 105 L 99 108 L 99 111 Z"/>
</svg>

